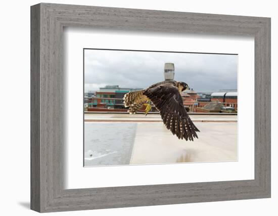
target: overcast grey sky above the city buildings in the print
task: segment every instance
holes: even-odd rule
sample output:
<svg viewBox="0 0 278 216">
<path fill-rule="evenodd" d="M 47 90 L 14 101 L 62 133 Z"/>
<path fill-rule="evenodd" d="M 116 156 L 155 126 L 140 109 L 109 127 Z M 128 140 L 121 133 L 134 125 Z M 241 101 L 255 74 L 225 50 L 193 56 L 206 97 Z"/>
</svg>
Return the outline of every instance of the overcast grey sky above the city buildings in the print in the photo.
<svg viewBox="0 0 278 216">
<path fill-rule="evenodd" d="M 85 92 L 105 85 L 147 88 L 164 80 L 166 62 L 174 63 L 174 79 L 196 92 L 237 89 L 237 55 L 85 50 Z"/>
</svg>

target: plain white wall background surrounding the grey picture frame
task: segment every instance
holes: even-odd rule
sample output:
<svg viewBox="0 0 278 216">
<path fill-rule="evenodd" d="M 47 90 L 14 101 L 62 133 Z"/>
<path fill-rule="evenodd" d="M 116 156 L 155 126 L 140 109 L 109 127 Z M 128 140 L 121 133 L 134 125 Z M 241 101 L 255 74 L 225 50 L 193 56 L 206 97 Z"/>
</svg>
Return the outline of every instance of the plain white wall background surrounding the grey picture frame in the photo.
<svg viewBox="0 0 278 216">
<path fill-rule="evenodd" d="M 166 11 L 229 14 L 271 17 L 272 38 L 272 132 L 277 130 L 278 107 L 277 38 L 278 14 L 275 1 L 128 1 L 128 0 L 79 0 L 48 1 L 49 3 L 94 5 Z M 0 199 L 2 215 L 34 215 L 30 203 L 30 6 L 39 1 L 5 1 L 1 4 L 0 34 Z M 131 207 L 117 209 L 58 212 L 56 215 L 277 215 L 277 143 L 272 133 L 272 198 L 236 200 L 208 203 L 177 204 L 164 206 Z"/>
</svg>

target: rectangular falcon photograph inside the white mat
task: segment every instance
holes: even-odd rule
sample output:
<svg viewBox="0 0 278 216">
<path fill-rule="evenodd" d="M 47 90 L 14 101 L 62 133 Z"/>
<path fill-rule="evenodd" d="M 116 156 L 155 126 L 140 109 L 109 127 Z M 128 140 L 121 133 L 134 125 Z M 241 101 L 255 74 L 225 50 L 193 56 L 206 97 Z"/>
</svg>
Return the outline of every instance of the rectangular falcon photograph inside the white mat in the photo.
<svg viewBox="0 0 278 216">
<path fill-rule="evenodd" d="M 83 49 L 84 166 L 238 160 L 238 55 Z"/>
</svg>

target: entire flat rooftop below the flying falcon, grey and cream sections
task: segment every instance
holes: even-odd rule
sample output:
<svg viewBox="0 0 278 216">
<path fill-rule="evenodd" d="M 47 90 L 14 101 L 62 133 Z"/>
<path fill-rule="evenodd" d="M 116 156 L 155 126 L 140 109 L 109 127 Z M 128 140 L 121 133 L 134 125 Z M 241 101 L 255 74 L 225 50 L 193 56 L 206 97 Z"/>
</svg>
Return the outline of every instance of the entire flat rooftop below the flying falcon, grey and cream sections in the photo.
<svg viewBox="0 0 278 216">
<path fill-rule="evenodd" d="M 237 161 L 237 115 L 190 114 L 199 139 L 179 140 L 159 114 L 85 113 L 85 166 Z"/>
</svg>

